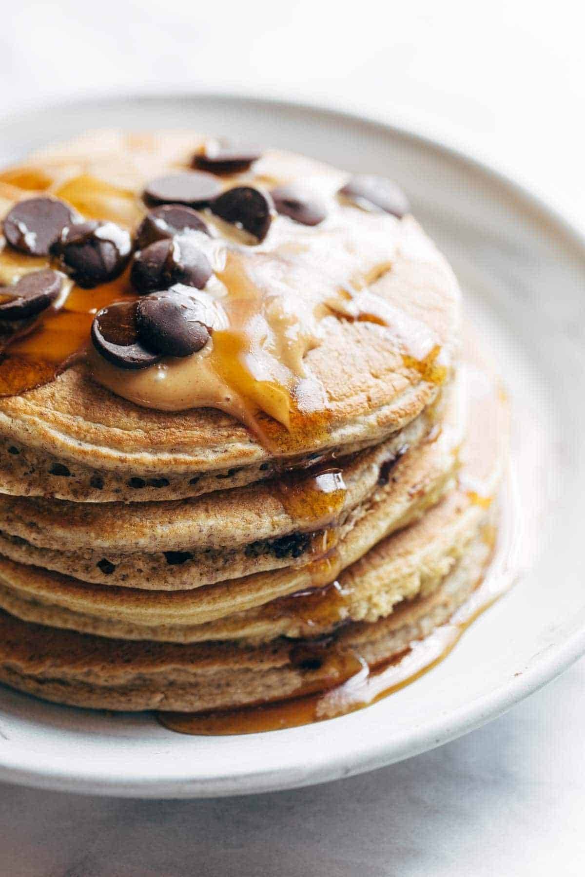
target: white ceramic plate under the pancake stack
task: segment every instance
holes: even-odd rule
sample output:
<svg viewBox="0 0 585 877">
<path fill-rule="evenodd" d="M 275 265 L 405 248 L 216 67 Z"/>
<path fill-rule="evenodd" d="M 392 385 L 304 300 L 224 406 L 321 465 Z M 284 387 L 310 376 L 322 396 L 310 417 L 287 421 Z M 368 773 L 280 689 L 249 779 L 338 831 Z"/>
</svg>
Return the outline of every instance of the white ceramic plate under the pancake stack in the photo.
<svg viewBox="0 0 585 877">
<path fill-rule="evenodd" d="M 292 788 L 445 743 L 510 708 L 585 652 L 579 561 L 585 490 L 585 244 L 546 205 L 445 146 L 389 125 L 230 96 L 132 98 L 4 123 L 4 161 L 90 127 L 192 127 L 390 175 L 438 240 L 500 360 L 513 411 L 517 504 L 508 532 L 528 571 L 452 654 L 368 709 L 288 731 L 197 738 L 149 715 L 67 709 L 0 688 L 0 778 L 111 795 L 196 797 Z"/>
</svg>

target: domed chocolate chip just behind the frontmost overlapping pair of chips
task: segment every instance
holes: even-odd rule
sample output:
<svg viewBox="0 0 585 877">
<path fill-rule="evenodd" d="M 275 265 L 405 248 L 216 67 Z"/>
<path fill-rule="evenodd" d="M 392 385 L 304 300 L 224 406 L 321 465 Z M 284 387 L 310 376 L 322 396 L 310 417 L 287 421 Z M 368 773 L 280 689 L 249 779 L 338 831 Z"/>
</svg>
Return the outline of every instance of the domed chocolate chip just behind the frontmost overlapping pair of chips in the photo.
<svg viewBox="0 0 585 877">
<path fill-rule="evenodd" d="M 155 240 L 136 253 L 130 280 L 139 293 L 168 289 L 183 283 L 203 289 L 211 276 L 210 262 L 188 236 Z"/>
</svg>

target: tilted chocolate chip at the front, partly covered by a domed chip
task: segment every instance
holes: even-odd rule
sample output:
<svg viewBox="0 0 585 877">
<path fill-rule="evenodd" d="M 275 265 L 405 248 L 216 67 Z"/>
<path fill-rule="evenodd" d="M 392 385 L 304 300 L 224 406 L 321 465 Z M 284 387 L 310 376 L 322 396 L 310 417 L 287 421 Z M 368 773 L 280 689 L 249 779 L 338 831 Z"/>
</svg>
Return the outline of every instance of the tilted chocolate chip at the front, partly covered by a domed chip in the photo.
<svg viewBox="0 0 585 877">
<path fill-rule="evenodd" d="M 141 345 L 136 310 L 136 302 L 110 304 L 97 311 L 91 324 L 91 340 L 97 353 L 120 368 L 146 368 L 161 359 Z"/>
</svg>

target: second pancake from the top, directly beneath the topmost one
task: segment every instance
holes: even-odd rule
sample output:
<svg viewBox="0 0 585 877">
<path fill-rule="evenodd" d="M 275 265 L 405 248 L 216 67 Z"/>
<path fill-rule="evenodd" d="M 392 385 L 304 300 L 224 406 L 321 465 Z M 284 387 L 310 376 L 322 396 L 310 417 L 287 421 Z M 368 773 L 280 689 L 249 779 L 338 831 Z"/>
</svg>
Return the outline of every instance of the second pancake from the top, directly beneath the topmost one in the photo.
<svg viewBox="0 0 585 877">
<path fill-rule="evenodd" d="M 396 527 L 447 488 L 465 432 L 464 388 L 456 389 L 432 431 L 420 415 L 398 439 L 334 470 L 173 503 L 0 496 L 0 553 L 82 581 L 154 590 L 301 567 L 382 501 Z M 156 553 L 145 550 L 152 546 Z"/>
</svg>

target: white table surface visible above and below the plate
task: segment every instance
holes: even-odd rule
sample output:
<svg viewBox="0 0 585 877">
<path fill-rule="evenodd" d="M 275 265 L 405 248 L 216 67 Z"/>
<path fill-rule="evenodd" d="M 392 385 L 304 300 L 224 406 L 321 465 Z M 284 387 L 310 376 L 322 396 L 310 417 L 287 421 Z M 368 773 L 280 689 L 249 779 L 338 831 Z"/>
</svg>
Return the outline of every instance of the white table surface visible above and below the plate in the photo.
<svg viewBox="0 0 585 877">
<path fill-rule="evenodd" d="M 346 106 L 491 160 L 585 227 L 574 0 L 11 4 L 0 113 L 226 89 Z M 375 774 L 203 802 L 0 785 L 7 877 L 585 873 L 585 661 L 465 738 Z"/>
</svg>

